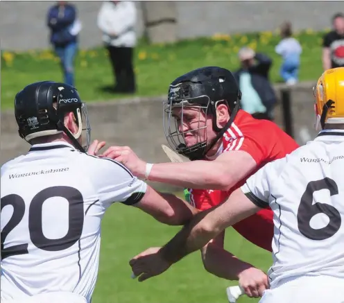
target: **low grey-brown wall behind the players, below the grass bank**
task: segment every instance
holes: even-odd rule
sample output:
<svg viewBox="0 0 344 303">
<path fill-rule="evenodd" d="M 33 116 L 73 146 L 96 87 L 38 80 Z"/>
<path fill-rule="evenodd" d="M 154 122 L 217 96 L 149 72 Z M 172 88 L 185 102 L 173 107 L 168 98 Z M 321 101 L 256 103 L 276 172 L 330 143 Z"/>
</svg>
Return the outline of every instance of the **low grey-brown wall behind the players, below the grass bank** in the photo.
<svg viewBox="0 0 344 303">
<path fill-rule="evenodd" d="M 313 93 L 315 83 L 300 83 L 291 91 L 294 137 L 304 144 L 315 137 L 313 131 Z M 277 96 L 285 85 L 275 85 Z M 164 96 L 130 100 L 89 103 L 87 110 L 92 125 L 92 138 L 108 145 L 126 145 L 148 162 L 168 162 L 161 145 L 166 144 L 163 129 L 162 100 Z M 276 123 L 284 128 L 281 101 L 275 109 Z M 268 135 L 268 134 L 267 134 Z M 26 153 L 29 145 L 19 137 L 12 110 L 1 112 L 0 164 Z M 162 187 L 153 184 L 155 187 Z"/>
</svg>

